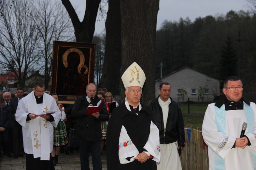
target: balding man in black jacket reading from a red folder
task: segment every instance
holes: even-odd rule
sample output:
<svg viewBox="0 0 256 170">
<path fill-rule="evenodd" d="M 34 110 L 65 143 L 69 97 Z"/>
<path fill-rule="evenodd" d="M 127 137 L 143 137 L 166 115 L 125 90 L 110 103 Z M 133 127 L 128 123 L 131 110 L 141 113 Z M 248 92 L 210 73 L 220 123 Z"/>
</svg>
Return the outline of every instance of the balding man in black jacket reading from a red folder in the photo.
<svg viewBox="0 0 256 170">
<path fill-rule="evenodd" d="M 109 114 L 105 102 L 99 112 L 87 115 L 88 106 L 97 106 L 101 100 L 96 96 L 97 87 L 94 83 L 86 86 L 86 94 L 77 98 L 73 105 L 71 115 L 76 118 L 76 127 L 79 133 L 79 151 L 81 169 L 89 170 L 89 149 L 93 158 L 93 169 L 101 170 L 101 124 L 100 121 L 108 121 Z"/>
</svg>

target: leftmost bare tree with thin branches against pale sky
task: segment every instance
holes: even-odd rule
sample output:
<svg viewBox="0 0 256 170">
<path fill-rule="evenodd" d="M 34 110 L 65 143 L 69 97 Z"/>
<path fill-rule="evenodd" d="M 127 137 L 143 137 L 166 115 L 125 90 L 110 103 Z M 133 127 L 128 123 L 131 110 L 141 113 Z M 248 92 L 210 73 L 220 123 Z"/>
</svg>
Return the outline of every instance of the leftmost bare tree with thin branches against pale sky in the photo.
<svg viewBox="0 0 256 170">
<path fill-rule="evenodd" d="M 33 70 L 39 57 L 35 52 L 38 32 L 32 22 L 28 1 L 2 1 L 0 17 L 0 61 L 3 73 L 10 73 L 19 86 Z"/>
</svg>

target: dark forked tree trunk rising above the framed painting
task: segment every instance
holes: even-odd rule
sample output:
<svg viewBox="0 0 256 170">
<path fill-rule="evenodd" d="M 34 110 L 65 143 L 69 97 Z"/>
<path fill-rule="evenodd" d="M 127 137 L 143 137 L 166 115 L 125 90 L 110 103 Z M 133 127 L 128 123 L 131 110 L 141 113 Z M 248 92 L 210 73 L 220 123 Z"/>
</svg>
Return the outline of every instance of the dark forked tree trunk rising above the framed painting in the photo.
<svg viewBox="0 0 256 170">
<path fill-rule="evenodd" d="M 95 22 L 101 0 L 86 0 L 84 20 L 80 22 L 72 4 L 69 0 L 61 0 L 69 13 L 75 29 L 76 42 L 91 43 L 95 31 Z"/>
</svg>

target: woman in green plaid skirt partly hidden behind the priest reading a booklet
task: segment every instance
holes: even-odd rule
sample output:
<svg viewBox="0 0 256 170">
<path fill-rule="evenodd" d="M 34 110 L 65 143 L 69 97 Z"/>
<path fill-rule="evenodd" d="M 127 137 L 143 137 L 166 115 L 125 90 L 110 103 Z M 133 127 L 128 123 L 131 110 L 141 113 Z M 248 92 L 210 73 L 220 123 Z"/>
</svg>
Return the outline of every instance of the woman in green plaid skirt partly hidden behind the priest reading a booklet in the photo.
<svg viewBox="0 0 256 170">
<path fill-rule="evenodd" d="M 66 113 L 63 105 L 58 103 L 58 95 L 56 93 L 52 94 L 53 98 L 56 101 L 56 104 L 61 112 L 61 118 L 57 125 L 57 127 L 53 128 L 53 152 L 52 152 L 52 160 L 54 166 L 58 164 L 58 156 L 60 151 L 60 146 L 64 146 L 68 144 L 68 135 L 66 130 L 66 125 L 64 122 L 67 121 Z"/>
</svg>

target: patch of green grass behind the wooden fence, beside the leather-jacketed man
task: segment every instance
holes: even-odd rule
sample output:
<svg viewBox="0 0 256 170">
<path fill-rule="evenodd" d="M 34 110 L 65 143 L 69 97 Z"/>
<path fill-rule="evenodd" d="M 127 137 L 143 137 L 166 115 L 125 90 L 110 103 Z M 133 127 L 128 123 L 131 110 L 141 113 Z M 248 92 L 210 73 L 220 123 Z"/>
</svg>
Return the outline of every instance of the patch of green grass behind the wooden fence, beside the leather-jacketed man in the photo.
<svg viewBox="0 0 256 170">
<path fill-rule="evenodd" d="M 208 104 L 190 104 L 188 113 L 188 104 L 182 103 L 180 107 L 183 114 L 184 124 L 202 127 L 204 113 L 207 106 Z"/>
</svg>

